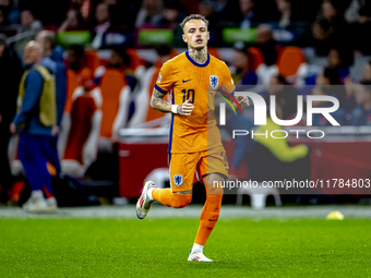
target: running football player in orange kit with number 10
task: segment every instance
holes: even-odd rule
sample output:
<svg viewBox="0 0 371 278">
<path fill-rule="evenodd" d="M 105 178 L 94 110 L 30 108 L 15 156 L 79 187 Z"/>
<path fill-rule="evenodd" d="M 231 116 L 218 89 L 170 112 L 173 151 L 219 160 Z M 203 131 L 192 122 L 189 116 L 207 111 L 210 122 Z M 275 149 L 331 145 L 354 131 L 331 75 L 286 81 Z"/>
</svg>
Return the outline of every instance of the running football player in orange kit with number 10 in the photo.
<svg viewBox="0 0 371 278">
<path fill-rule="evenodd" d="M 210 33 L 205 17 L 192 14 L 180 25 L 188 51 L 164 63 L 151 99 L 152 108 L 172 113 L 168 150 L 171 189 L 157 189 L 147 181 L 136 203 L 136 216 L 145 218 L 154 201 L 173 208 L 185 207 L 191 203 L 196 177 L 205 184 L 206 202 L 188 261 L 213 262 L 203 254 L 203 246 L 219 217 L 220 185 L 228 178 L 227 157 L 214 117 L 214 97 L 217 89 L 231 94 L 235 86 L 226 63 L 207 53 Z M 168 92 L 172 104 L 164 100 Z M 247 97 L 237 100 L 249 106 Z"/>
</svg>

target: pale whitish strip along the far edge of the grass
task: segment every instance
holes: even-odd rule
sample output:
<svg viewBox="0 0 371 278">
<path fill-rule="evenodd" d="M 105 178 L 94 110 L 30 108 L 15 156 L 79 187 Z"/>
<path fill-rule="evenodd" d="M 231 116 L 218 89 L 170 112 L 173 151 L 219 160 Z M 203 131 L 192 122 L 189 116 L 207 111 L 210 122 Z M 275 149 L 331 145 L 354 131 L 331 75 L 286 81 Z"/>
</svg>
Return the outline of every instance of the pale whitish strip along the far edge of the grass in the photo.
<svg viewBox="0 0 371 278">
<path fill-rule="evenodd" d="M 200 218 L 202 205 L 190 205 L 182 209 L 173 209 L 154 205 L 147 216 L 155 218 Z M 371 206 L 299 206 L 267 207 L 252 209 L 248 206 L 226 205 L 222 207 L 220 219 L 224 218 L 320 218 L 324 219 L 333 210 L 340 210 L 345 218 L 371 219 Z M 27 214 L 19 207 L 0 207 L 0 218 L 136 218 L 135 206 L 95 206 L 59 208 L 57 214 Z"/>
</svg>

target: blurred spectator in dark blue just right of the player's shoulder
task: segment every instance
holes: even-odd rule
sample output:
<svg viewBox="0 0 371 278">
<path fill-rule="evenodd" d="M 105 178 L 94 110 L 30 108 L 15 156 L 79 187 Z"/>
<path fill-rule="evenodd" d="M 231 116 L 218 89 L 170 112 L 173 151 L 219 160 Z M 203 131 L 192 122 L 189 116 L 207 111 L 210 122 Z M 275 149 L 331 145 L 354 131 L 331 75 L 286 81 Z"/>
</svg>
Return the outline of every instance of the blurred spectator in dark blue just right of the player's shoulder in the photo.
<svg viewBox="0 0 371 278">
<path fill-rule="evenodd" d="M 235 49 L 230 65 L 234 70 L 232 78 L 236 85 L 253 87 L 258 84 L 258 76 L 252 70 L 252 56 L 247 48 Z"/>
</svg>

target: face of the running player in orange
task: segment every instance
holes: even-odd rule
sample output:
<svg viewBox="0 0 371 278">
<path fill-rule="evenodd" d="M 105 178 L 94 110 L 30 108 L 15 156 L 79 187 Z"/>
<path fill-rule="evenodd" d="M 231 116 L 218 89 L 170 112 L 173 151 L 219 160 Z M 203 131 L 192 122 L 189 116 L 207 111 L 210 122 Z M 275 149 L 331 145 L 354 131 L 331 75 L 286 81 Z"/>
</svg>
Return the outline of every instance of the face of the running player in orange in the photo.
<svg viewBox="0 0 371 278">
<path fill-rule="evenodd" d="M 210 39 L 206 23 L 202 20 L 190 20 L 185 23 L 184 35 L 182 37 L 189 47 L 196 50 L 203 49 Z"/>
</svg>

